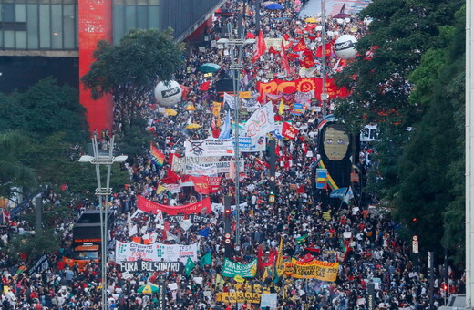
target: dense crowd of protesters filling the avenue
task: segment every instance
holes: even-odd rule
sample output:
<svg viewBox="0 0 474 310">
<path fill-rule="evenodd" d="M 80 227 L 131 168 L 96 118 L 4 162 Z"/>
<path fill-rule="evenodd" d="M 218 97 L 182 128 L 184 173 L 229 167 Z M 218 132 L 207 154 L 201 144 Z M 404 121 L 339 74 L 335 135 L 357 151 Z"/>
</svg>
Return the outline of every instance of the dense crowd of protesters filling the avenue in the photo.
<svg viewBox="0 0 474 310">
<path fill-rule="evenodd" d="M 305 3 L 305 2 L 304 2 Z M 284 1 L 281 10 L 262 9 L 261 29 L 267 38 L 289 37 L 286 41 L 296 43 L 304 38 L 305 44 L 314 54 L 321 46 L 320 24 L 308 24 L 307 16 L 298 16 L 299 1 Z M 246 16 L 243 19 L 247 37 L 258 36 L 254 2 L 246 2 Z M 224 9 L 225 8 L 225 9 Z M 175 78 L 187 88 L 184 104 L 172 107 L 178 113 L 168 115 L 157 104 L 149 104 L 142 109 L 142 116 L 149 120 L 149 130 L 159 149 L 168 160 L 162 167 L 151 162 L 149 156 L 129 158 L 122 169 L 129 171 L 129 184 L 111 197 L 108 207 L 116 214 L 116 220 L 109 235 L 108 249 L 108 309 L 147 309 L 157 307 L 157 294 L 141 294 L 143 284 L 157 283 L 159 273 L 124 274 L 114 263 L 115 243 L 144 242 L 146 236 L 154 235 L 154 240 L 170 244 L 199 244 L 199 253 L 211 253 L 212 262 L 200 266 L 199 263 L 189 274 L 165 272 L 167 304 L 165 309 L 259 309 L 260 305 L 237 305 L 216 301 L 216 293 L 245 290 L 258 285 L 262 292 L 278 294 L 278 309 L 366 309 L 367 284 L 375 284 L 375 301 L 378 309 L 428 309 L 428 280 L 426 267 L 413 260 L 411 247 L 397 235 L 397 222 L 376 206 L 369 194 L 356 192 L 360 198 L 340 205 L 325 206 L 313 199 L 311 182 L 312 164 L 318 160 L 318 119 L 322 118 L 321 102 L 311 98 L 305 102 L 302 114 L 293 114 L 292 109 L 279 113 L 281 119 L 291 122 L 298 135 L 294 140 L 277 140 L 278 159 L 276 169 L 275 202 L 269 202 L 271 194 L 269 152 L 243 153 L 244 171 L 240 182 L 240 202 L 244 202 L 240 213 L 240 248 L 233 248 L 232 260 L 249 263 L 259 253 L 263 253 L 264 263 L 271 262 L 273 253 L 279 249 L 283 240 L 285 260 L 296 259 L 340 263 L 335 282 L 316 279 L 295 279 L 275 276 L 272 268 L 260 268 L 256 275 L 244 284 L 232 278 L 224 278 L 225 283 L 217 281 L 222 274 L 224 260 L 223 215 L 222 209 L 213 209 L 206 215 L 208 222 L 195 222 L 185 230 L 177 222 L 170 222 L 165 228 L 156 221 L 156 215 L 137 212 L 138 196 L 149 201 L 166 205 L 184 205 L 201 201 L 205 197 L 192 187 L 182 188 L 179 193 L 159 191 L 165 185 L 161 180 L 170 176 L 170 157 L 183 155 L 185 140 L 202 140 L 212 135 L 215 119 L 211 113 L 212 102 L 222 102 L 222 94 L 215 88 L 219 80 L 232 78 L 230 71 L 231 55 L 229 47 L 217 41 L 226 36 L 228 25 L 238 29 L 239 12 L 243 9 L 241 1 L 229 0 L 222 11 L 214 16 L 211 27 L 205 30 L 201 46 L 190 47 L 185 57 L 185 66 Z M 316 16 L 317 17 L 317 16 Z M 345 18 L 328 18 L 325 25 L 327 41 L 337 36 L 352 34 L 363 36 L 369 21 L 356 19 L 354 15 Z M 316 26 L 308 26 L 316 25 Z M 319 27 L 318 27 L 319 26 Z M 233 31 L 233 30 L 232 30 Z M 254 45 L 243 47 L 240 87 L 257 94 L 257 81 L 266 82 L 273 78 L 292 80 L 301 77 L 300 64 L 303 54 L 293 52 L 290 59 L 291 72 L 284 73 L 282 59 L 278 53 L 265 53 L 252 62 Z M 291 47 L 289 47 L 291 48 Z M 291 51 L 289 51 L 290 53 Z M 332 52 L 322 64 L 321 57 L 315 57 L 311 77 L 321 77 L 321 67 L 327 67 L 331 76 L 344 67 L 341 60 Z M 199 71 L 204 63 L 218 64 L 221 69 L 212 75 Z M 201 86 L 211 81 L 210 88 Z M 231 90 L 232 91 L 232 90 Z M 188 109 L 193 107 L 193 109 Z M 278 104 L 274 105 L 275 111 Z M 229 107 L 222 107 L 222 115 Z M 116 111 L 116 114 L 120 114 Z M 252 109 L 248 115 L 252 114 Z M 222 118 L 223 119 L 223 118 Z M 186 129 L 190 123 L 200 125 L 198 129 Z M 114 131 L 118 132 L 120 124 Z M 99 135 L 100 145 L 108 148 L 110 133 L 105 130 Z M 370 144 L 361 146 L 357 154 L 359 166 L 363 171 L 373 168 Z M 229 160 L 222 158 L 221 160 Z M 182 179 L 182 173 L 179 174 Z M 360 180 L 363 181 L 363 180 Z M 212 193 L 211 202 L 222 203 L 224 195 L 232 197 L 235 203 L 236 186 L 232 178 L 223 176 L 219 191 Z M 43 200 L 49 204 L 61 202 L 61 197 L 48 190 Z M 57 233 L 62 238 L 62 250 L 51 253 L 48 259 L 51 267 L 41 274 L 28 274 L 15 260 L 2 254 L 2 309 L 98 309 L 101 301 L 101 268 L 98 262 L 91 261 L 84 268 L 68 266 L 63 257 L 72 240 L 72 223 L 84 209 L 77 209 L 75 217 L 57 220 Z M 170 221 L 164 214 L 165 221 Z M 61 221 L 62 220 L 62 221 Z M 198 232 L 209 228 L 204 237 Z M 27 233 L 32 228 L 25 221 L 8 223 L 2 234 L 5 246 L 12 233 Z M 235 233 L 235 231 L 233 231 Z M 345 236 L 350 233 L 350 238 Z M 304 237 L 304 241 L 296 242 Z M 147 237 L 148 238 L 148 237 Z M 347 250 L 349 249 L 349 250 Z M 270 262 L 269 262 L 270 261 Z M 440 275 L 440 273 L 437 273 Z M 199 280 L 198 280 L 199 278 Z M 435 283 L 435 303 L 442 303 L 441 283 Z M 463 283 L 450 277 L 450 293 L 462 293 Z"/>
</svg>

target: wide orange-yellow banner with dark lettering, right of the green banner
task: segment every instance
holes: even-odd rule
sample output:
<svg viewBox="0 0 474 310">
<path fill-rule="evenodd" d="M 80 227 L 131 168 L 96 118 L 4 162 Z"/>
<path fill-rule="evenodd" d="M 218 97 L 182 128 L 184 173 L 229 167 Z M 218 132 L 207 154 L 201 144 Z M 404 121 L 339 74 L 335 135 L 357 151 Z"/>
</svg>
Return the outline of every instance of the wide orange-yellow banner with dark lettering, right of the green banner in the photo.
<svg viewBox="0 0 474 310">
<path fill-rule="evenodd" d="M 338 269 L 339 263 L 315 260 L 303 263 L 293 259 L 291 263 L 284 263 L 284 273 L 297 279 L 318 279 L 321 281 L 335 282 Z"/>
</svg>

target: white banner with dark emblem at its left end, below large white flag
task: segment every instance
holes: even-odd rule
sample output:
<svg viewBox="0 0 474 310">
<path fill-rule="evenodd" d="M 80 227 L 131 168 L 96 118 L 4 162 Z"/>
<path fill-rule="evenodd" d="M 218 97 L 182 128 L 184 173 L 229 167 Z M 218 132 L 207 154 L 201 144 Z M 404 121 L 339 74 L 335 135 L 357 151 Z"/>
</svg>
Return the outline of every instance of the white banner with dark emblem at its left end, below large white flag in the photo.
<svg viewBox="0 0 474 310">
<path fill-rule="evenodd" d="M 231 139 L 186 140 L 184 142 L 186 156 L 233 156 Z"/>
</svg>

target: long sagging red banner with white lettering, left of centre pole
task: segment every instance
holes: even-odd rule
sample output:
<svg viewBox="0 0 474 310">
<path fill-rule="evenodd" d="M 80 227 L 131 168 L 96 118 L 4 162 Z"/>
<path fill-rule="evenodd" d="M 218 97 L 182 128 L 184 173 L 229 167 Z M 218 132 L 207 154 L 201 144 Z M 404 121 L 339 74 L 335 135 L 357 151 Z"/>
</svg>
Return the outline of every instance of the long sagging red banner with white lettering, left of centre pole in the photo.
<svg viewBox="0 0 474 310">
<path fill-rule="evenodd" d="M 165 212 L 170 215 L 178 215 L 180 213 L 184 213 L 184 214 L 201 213 L 201 212 L 211 213 L 211 199 L 208 197 L 201 200 L 201 202 L 195 202 L 195 203 L 179 205 L 179 206 L 169 206 L 169 205 L 164 205 L 157 202 L 151 202 L 148 199 L 142 196 L 139 196 L 137 207 L 142 212 L 157 213 L 157 211 L 160 210 L 161 212 Z"/>
</svg>

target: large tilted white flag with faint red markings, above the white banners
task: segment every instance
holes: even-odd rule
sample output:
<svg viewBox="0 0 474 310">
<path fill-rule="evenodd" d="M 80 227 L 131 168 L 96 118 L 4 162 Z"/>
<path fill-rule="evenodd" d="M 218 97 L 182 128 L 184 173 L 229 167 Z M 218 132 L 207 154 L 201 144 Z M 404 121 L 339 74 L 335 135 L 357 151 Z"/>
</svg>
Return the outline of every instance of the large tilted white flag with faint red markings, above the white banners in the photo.
<svg viewBox="0 0 474 310">
<path fill-rule="evenodd" d="M 253 112 L 252 116 L 245 123 L 244 129 L 249 137 L 263 137 L 275 129 L 275 114 L 272 102 L 268 102 Z"/>
</svg>

